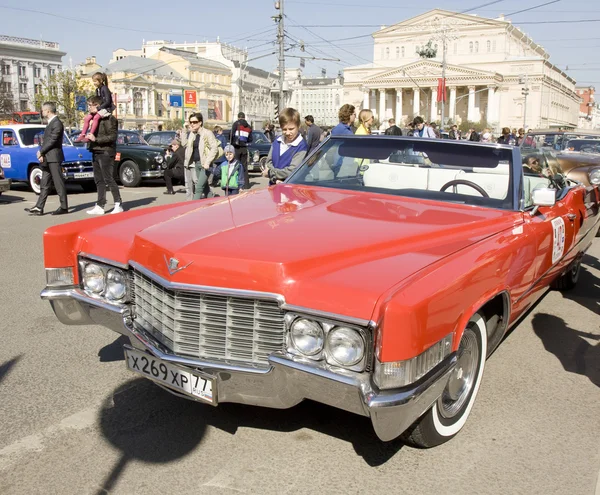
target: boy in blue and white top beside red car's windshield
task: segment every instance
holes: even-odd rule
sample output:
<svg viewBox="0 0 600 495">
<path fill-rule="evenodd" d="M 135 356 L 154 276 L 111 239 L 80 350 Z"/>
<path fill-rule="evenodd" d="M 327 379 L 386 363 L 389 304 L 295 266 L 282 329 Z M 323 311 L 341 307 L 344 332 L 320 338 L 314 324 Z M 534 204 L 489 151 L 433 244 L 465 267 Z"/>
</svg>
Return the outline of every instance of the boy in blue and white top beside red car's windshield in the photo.
<svg viewBox="0 0 600 495">
<path fill-rule="evenodd" d="M 281 136 L 269 150 L 266 166 L 262 169 L 269 184 L 278 184 L 287 179 L 302 163 L 308 151 L 308 145 L 300 135 L 300 114 L 293 108 L 286 108 L 279 115 Z"/>
</svg>

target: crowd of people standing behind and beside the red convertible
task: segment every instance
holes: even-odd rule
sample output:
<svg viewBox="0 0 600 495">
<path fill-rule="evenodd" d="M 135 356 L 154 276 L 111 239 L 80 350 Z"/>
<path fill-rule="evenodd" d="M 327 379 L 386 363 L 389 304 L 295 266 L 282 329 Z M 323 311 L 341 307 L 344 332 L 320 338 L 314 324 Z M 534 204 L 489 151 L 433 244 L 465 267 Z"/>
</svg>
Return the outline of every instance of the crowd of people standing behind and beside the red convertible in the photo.
<svg viewBox="0 0 600 495">
<path fill-rule="evenodd" d="M 94 181 L 98 198 L 94 207 L 87 211 L 89 215 L 103 215 L 106 206 L 107 189 L 111 192 L 114 207 L 111 213 L 121 213 L 123 210 L 119 188 L 114 178 L 117 119 L 112 115 L 112 95 L 107 86 L 106 75 L 97 73 L 93 77 L 96 95 L 88 99 L 89 115 L 85 119 L 84 132 L 77 138 L 88 144 L 93 156 Z M 62 152 L 62 134 L 64 126 L 56 115 L 56 104 L 46 102 L 42 106 L 42 114 L 48 125 L 44 140 L 38 151 L 38 159 L 42 168 L 41 193 L 36 205 L 25 210 L 30 215 L 43 215 L 44 205 L 52 186 L 55 187 L 60 207 L 53 215 L 68 213 L 67 193 L 60 167 L 64 160 Z M 292 171 L 302 163 L 319 143 L 329 134 L 363 135 L 373 134 L 375 116 L 369 109 L 358 113 L 353 105 L 345 104 L 338 112 L 339 123 L 330 131 L 321 129 L 315 124 L 312 115 L 304 117 L 304 125 L 300 113 L 294 108 L 286 108 L 279 115 L 280 135 L 276 135 L 275 126 L 268 123 L 264 133 L 271 141 L 271 148 L 264 166 L 261 167 L 263 177 L 269 179 L 269 184 L 283 182 Z M 441 138 L 440 130 L 435 123 L 426 122 L 417 116 L 402 130 L 394 119 L 389 119 L 385 129 L 386 135 L 413 136 L 420 138 Z M 175 194 L 173 181 L 185 184 L 187 200 L 208 198 L 213 195 L 211 184 L 220 185 L 225 196 L 238 194 L 249 188 L 248 180 L 248 145 L 252 142 L 252 126 L 246 120 L 244 112 L 239 112 L 231 128 L 229 140 L 223 134 L 220 126 L 211 131 L 204 127 L 202 113 L 195 112 L 189 116 L 188 126 L 177 133 L 167 154 L 167 169 L 164 178 L 167 190 L 164 194 Z M 498 142 L 509 145 L 519 145 L 525 131 L 505 127 L 502 134 L 494 140 L 489 129 L 477 132 L 469 129 L 464 135 L 456 125 L 448 133 L 448 139 L 481 142 Z M 527 170 L 539 173 L 533 161 L 525 164 Z"/>
</svg>

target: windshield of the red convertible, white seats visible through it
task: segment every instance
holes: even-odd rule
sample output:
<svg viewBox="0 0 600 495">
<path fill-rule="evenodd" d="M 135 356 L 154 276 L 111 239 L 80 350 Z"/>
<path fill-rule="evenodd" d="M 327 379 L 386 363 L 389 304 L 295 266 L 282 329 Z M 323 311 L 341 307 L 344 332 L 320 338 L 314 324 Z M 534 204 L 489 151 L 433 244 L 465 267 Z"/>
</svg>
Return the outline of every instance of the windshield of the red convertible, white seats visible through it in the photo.
<svg viewBox="0 0 600 495">
<path fill-rule="evenodd" d="M 499 146 L 334 137 L 287 182 L 514 209 L 511 164 Z"/>
</svg>

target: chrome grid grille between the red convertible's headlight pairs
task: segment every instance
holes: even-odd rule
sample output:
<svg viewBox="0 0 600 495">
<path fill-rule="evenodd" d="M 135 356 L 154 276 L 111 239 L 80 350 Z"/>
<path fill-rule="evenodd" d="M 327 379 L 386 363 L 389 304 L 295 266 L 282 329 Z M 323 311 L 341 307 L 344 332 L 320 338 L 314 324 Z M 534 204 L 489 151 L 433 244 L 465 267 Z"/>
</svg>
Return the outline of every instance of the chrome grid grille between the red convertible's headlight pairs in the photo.
<svg viewBox="0 0 600 495">
<path fill-rule="evenodd" d="M 265 367 L 285 343 L 274 300 L 167 289 L 133 272 L 135 323 L 179 356 Z"/>
</svg>

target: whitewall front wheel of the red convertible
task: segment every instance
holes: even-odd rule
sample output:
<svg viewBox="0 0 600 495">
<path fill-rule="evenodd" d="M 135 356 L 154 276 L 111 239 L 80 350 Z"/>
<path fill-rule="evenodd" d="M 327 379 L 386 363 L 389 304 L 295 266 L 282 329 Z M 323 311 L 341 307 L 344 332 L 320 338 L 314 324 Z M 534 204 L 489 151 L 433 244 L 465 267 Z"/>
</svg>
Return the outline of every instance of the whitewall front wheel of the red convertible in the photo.
<svg viewBox="0 0 600 495">
<path fill-rule="evenodd" d="M 454 437 L 465 425 L 475 403 L 487 355 L 487 329 L 476 313 L 467 323 L 458 347 L 456 366 L 442 395 L 403 435 L 410 445 L 429 448 Z"/>
</svg>

